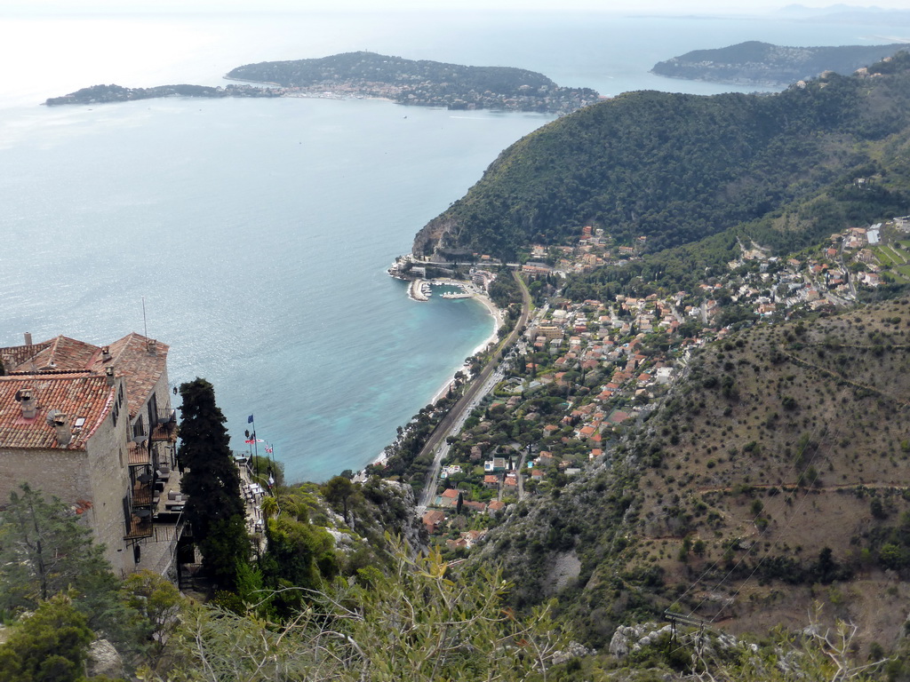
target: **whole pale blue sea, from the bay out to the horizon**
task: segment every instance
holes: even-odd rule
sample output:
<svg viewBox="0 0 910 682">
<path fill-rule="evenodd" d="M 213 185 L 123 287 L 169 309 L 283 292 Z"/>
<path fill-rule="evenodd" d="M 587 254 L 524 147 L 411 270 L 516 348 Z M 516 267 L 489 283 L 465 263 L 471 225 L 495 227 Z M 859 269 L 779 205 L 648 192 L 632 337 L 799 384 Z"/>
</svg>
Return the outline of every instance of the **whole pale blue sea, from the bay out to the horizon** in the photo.
<svg viewBox="0 0 910 682">
<path fill-rule="evenodd" d="M 270 447 L 290 481 L 359 469 L 493 331 L 476 301 L 412 301 L 386 268 L 552 117 L 361 99 L 45 98 L 101 83 L 224 85 L 237 65 L 356 50 L 519 66 L 602 95 L 713 95 L 737 88 L 648 71 L 745 40 L 908 34 L 777 15 L 0 9 L 0 346 L 25 332 L 97 345 L 147 334 L 170 346 L 174 387 L 215 386 L 235 450 L 248 451 L 255 424 L 259 454 Z"/>
</svg>

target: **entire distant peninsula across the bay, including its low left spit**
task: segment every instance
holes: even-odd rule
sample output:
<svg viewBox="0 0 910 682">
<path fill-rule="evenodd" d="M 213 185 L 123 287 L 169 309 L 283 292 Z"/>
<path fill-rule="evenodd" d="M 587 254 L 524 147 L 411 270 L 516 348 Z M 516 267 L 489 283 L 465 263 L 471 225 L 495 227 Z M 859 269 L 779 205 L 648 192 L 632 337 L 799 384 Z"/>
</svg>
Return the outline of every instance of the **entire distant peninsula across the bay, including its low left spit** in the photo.
<svg viewBox="0 0 910 682">
<path fill-rule="evenodd" d="M 153 97 L 380 98 L 399 105 L 568 114 L 600 99 L 587 87 L 561 87 L 545 75 L 506 66 L 413 61 L 370 52 L 238 66 L 226 76 L 247 81 L 225 87 L 92 85 L 46 105 L 88 105 Z M 249 85 L 250 82 L 260 83 Z"/>
</svg>

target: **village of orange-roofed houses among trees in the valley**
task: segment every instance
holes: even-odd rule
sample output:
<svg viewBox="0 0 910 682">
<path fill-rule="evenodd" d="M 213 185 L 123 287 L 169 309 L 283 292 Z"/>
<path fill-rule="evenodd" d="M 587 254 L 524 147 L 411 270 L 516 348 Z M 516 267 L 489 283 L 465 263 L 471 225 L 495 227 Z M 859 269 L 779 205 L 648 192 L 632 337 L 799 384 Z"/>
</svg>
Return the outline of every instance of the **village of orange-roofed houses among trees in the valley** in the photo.
<svg viewBox="0 0 910 682">
<path fill-rule="evenodd" d="M 551 298 L 512 353 L 507 378 L 473 411 L 460 436 L 450 438 L 424 527 L 455 556 L 462 554 L 507 506 L 558 494 L 586 463 L 600 461 L 624 427 L 666 393 L 693 349 L 734 326 L 843 309 L 883 283 L 910 281 L 907 233 L 910 217 L 896 217 L 831 235 L 789 258 L 741 243 L 725 273 L 691 292 L 612 301 Z M 541 260 L 522 270 L 530 279 L 564 278 L 622 265 L 638 257 L 644 242 L 615 247 L 602 229 L 586 226 L 575 246 L 532 247 L 531 257 Z M 475 281 L 489 286 L 493 276 L 478 272 Z"/>
</svg>

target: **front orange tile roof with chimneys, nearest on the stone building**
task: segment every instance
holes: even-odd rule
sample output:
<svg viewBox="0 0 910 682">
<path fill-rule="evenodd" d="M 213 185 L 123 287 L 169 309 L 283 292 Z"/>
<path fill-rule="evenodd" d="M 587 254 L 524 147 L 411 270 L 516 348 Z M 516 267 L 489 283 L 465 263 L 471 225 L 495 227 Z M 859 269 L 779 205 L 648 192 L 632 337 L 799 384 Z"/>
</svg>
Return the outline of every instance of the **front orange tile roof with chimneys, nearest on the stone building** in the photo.
<svg viewBox="0 0 910 682">
<path fill-rule="evenodd" d="M 31 388 L 35 395 L 37 413 L 31 419 L 22 416 L 22 405 L 15 400 L 22 388 Z M 47 423 L 48 412 L 56 409 L 66 413 L 73 426 L 66 449 L 84 450 L 113 406 L 114 392 L 104 376 L 87 373 L 0 376 L 0 447 L 60 447 L 54 426 Z M 76 426 L 78 418 L 85 419 L 82 426 Z"/>
</svg>

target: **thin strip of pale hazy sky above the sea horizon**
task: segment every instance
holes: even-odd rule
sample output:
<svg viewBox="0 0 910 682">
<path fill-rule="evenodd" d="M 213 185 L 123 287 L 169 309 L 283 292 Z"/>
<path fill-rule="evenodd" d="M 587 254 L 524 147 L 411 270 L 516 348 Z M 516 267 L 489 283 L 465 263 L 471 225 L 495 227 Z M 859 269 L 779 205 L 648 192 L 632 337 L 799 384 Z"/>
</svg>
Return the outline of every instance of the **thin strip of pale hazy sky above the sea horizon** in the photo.
<svg viewBox="0 0 910 682">
<path fill-rule="evenodd" d="M 163 12 L 263 12 L 263 11 L 368 11 L 395 9 L 420 10 L 518 10 L 518 11 L 593 11 L 630 14 L 757 14 L 779 9 L 788 2 L 779 0 L 0 0 L 0 12 L 51 11 L 83 13 L 86 11 L 144 11 Z M 830 0 L 803 0 L 807 7 L 834 5 Z M 874 4 L 851 3 L 858 6 L 877 6 L 908 9 L 908 0 L 878 0 Z M 844 5 L 841 5 L 842 7 Z"/>
</svg>

